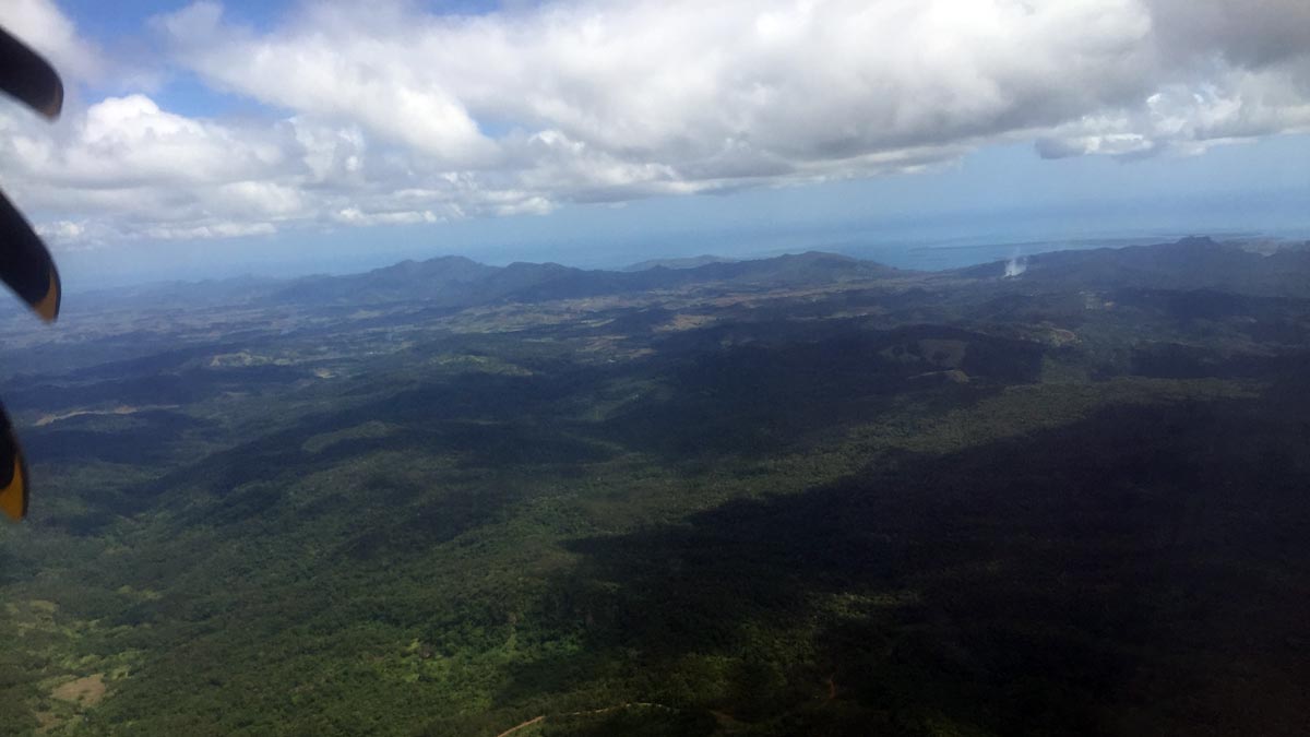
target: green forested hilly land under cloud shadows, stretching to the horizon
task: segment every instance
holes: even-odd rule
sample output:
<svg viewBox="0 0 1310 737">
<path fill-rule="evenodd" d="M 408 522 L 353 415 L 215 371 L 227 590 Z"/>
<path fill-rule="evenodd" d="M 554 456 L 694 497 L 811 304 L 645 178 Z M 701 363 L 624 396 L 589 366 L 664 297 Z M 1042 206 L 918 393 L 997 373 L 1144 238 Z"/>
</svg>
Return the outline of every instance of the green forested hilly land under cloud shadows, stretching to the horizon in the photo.
<svg viewBox="0 0 1310 737">
<path fill-rule="evenodd" d="M 1305 733 L 1310 249 L 639 266 L 0 324 L 0 733 Z"/>
</svg>

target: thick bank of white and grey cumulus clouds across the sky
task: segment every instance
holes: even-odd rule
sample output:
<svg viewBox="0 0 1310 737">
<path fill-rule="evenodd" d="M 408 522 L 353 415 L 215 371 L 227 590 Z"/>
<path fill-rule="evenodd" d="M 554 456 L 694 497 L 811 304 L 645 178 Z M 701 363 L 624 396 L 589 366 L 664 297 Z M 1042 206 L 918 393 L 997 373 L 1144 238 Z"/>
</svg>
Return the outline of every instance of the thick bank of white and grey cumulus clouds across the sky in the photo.
<svg viewBox="0 0 1310 737">
<path fill-rule="evenodd" d="M 45 18 L 26 28 L 51 54 L 80 47 L 48 0 L 16 1 Z M 305 3 L 259 30 L 203 0 L 152 26 L 170 64 L 269 117 L 193 119 L 143 94 L 56 130 L 0 114 L 4 174 L 56 237 L 434 223 L 916 172 L 997 142 L 1131 159 L 1310 130 L 1303 0 L 559 0 L 476 16 L 375 0 Z"/>
</svg>

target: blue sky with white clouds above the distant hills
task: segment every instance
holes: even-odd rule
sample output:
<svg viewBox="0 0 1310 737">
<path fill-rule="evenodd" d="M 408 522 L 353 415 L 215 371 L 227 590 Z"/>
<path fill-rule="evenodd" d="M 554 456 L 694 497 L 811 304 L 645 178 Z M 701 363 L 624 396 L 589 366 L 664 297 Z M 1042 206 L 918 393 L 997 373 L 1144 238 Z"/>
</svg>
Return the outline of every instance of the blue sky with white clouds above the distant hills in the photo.
<svg viewBox="0 0 1310 737">
<path fill-rule="evenodd" d="M 0 0 L 72 287 L 1310 233 L 1305 0 Z"/>
</svg>

